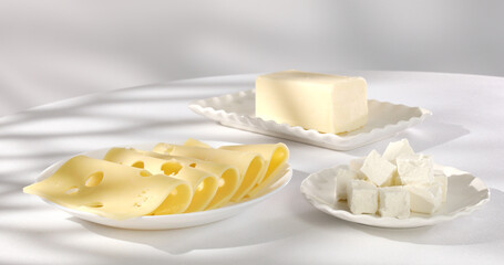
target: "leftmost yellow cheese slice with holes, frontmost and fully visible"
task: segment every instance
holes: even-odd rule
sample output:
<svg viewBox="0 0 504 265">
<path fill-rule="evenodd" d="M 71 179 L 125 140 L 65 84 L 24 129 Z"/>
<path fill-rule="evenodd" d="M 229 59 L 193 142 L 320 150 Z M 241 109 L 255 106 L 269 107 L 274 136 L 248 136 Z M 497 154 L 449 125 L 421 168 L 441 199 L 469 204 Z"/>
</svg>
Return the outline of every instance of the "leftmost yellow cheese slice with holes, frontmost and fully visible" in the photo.
<svg viewBox="0 0 504 265">
<path fill-rule="evenodd" d="M 23 191 L 115 220 L 182 213 L 193 197 L 185 180 L 84 156 L 71 158 Z"/>
</svg>

